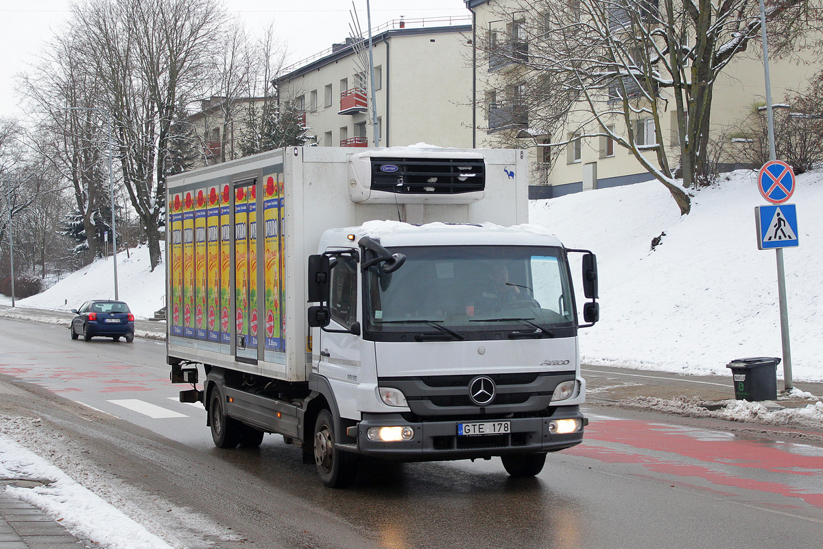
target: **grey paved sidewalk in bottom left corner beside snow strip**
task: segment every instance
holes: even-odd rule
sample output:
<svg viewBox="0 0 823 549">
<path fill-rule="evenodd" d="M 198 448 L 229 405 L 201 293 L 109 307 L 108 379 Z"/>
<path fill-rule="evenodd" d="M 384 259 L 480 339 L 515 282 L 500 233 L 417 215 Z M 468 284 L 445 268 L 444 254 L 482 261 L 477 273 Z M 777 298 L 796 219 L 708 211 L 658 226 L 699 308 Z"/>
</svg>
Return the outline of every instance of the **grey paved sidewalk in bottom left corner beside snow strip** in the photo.
<svg viewBox="0 0 823 549">
<path fill-rule="evenodd" d="M 45 511 L 6 491 L 9 484 L 0 482 L 0 549 L 98 549 L 100 546 L 81 540 L 63 525 L 49 518 Z"/>
</svg>

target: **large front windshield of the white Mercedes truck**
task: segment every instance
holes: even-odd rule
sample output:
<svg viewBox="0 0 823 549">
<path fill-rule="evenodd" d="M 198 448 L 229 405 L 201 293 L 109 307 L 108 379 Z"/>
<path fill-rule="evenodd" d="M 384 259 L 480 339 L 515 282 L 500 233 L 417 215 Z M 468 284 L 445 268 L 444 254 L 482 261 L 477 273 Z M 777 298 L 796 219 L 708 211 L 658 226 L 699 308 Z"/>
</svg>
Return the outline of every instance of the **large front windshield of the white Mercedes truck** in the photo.
<svg viewBox="0 0 823 549">
<path fill-rule="evenodd" d="M 574 335 L 569 269 L 559 248 L 432 246 L 390 251 L 407 256 L 402 268 L 387 274 L 374 266 L 365 273 L 363 316 L 366 332 L 375 340 Z"/>
</svg>

